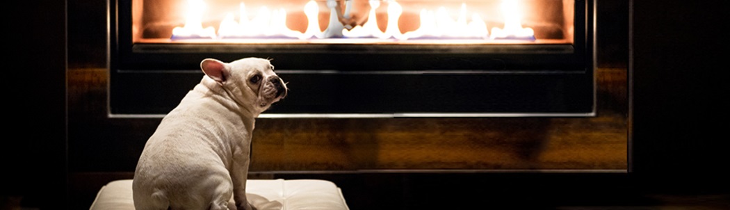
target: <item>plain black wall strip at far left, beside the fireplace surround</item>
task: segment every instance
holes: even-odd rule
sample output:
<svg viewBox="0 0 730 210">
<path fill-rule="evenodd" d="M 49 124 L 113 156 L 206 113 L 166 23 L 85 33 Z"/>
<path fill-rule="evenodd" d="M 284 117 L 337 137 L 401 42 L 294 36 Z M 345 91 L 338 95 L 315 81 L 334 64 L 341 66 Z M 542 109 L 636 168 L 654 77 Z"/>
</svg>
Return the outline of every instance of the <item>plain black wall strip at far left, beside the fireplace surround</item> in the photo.
<svg viewBox="0 0 730 210">
<path fill-rule="evenodd" d="M 4 4 L 0 207 L 66 206 L 66 2 Z"/>
</svg>

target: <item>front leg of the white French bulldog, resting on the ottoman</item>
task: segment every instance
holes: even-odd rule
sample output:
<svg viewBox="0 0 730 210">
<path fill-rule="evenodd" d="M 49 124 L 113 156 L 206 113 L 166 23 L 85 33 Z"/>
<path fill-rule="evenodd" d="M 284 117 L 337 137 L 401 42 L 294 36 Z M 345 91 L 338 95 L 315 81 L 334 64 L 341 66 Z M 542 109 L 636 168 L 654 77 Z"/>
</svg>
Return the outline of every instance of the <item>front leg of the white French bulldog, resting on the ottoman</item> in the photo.
<svg viewBox="0 0 730 210">
<path fill-rule="evenodd" d="M 239 210 L 255 209 L 248 203 L 246 198 L 246 179 L 248 176 L 249 156 L 234 155 L 234 164 L 231 168 L 231 179 L 233 180 L 233 197 L 236 201 L 236 207 Z"/>
</svg>

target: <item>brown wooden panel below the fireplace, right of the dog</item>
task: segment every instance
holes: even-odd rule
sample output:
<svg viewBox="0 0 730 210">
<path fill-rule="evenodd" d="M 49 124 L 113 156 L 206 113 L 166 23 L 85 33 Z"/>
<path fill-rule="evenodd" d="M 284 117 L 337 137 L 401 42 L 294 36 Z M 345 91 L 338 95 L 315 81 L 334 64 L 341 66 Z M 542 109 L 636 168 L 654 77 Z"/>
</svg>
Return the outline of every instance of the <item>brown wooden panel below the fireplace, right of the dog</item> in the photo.
<svg viewBox="0 0 730 210">
<path fill-rule="evenodd" d="M 626 169 L 625 118 L 259 119 L 254 171 Z"/>
</svg>

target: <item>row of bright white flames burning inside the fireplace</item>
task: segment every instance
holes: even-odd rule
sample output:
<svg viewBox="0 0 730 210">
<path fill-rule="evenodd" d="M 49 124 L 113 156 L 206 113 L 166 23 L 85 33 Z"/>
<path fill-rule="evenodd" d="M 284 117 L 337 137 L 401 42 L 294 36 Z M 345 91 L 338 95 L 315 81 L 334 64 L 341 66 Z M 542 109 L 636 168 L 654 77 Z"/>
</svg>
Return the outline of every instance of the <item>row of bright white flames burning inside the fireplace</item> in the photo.
<svg viewBox="0 0 730 210">
<path fill-rule="evenodd" d="M 339 22 L 337 12 L 334 10 L 336 3 L 328 0 L 328 7 L 331 9 L 329 26 L 324 31 L 319 26 L 319 7 L 316 1 L 310 0 L 304 6 L 304 14 L 307 16 L 307 30 L 291 30 L 286 26 L 285 9 L 269 10 L 261 7 L 258 14 L 251 20 L 247 18 L 246 9 L 243 3 L 240 5 L 239 22 L 234 20 L 234 15 L 228 14 L 224 18 L 216 33 L 215 28 L 203 28 L 201 20 L 205 3 L 202 0 L 188 0 L 188 14 L 185 26 L 175 27 L 172 31 L 172 39 L 226 39 L 226 38 L 290 38 L 290 39 L 327 39 L 327 38 L 377 38 L 377 39 L 431 39 L 431 38 L 461 38 L 461 39 L 529 39 L 534 40 L 532 28 L 523 28 L 520 23 L 517 0 L 504 0 L 502 11 L 505 14 L 504 28 L 492 28 L 488 32 L 486 23 L 480 15 L 474 13 L 471 21 L 466 21 L 466 4 L 461 4 L 461 13 L 457 20 L 453 20 L 447 14 L 444 7 L 436 12 L 422 9 L 420 12 L 420 27 L 415 31 L 401 33 L 398 27 L 398 20 L 403 8 L 394 0 L 383 0 L 388 4 L 388 25 L 385 31 L 377 26 L 375 9 L 380 7 L 380 0 L 370 0 L 369 16 L 366 23 L 354 28 L 345 28 Z M 351 1 L 347 1 L 351 4 Z M 348 7 L 350 5 L 347 5 Z M 345 14 L 347 15 L 347 14 Z M 391 18 L 393 17 L 393 18 Z"/>
</svg>

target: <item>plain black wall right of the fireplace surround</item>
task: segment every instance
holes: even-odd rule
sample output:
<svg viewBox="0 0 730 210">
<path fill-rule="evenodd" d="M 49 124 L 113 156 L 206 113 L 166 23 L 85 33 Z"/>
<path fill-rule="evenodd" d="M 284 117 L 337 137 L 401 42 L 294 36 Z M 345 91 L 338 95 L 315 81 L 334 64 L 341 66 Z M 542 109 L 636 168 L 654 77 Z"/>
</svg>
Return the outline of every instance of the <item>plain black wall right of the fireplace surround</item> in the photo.
<svg viewBox="0 0 730 210">
<path fill-rule="evenodd" d="M 631 2 L 631 168 L 650 188 L 730 188 L 723 3 Z"/>
</svg>

